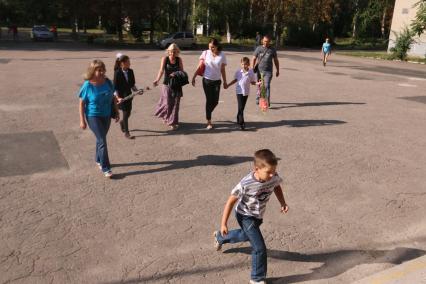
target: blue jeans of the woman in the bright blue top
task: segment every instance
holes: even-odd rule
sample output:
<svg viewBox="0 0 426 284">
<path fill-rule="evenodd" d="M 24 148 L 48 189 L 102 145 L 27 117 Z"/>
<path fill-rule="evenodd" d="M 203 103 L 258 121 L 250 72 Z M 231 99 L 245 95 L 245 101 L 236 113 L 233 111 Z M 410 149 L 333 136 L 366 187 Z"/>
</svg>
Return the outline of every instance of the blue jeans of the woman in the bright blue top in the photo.
<svg viewBox="0 0 426 284">
<path fill-rule="evenodd" d="M 109 116 L 88 116 L 87 123 L 96 136 L 96 163 L 101 164 L 104 173 L 108 172 L 111 170 L 111 165 L 108 158 L 106 135 L 111 125 L 111 118 Z"/>
</svg>

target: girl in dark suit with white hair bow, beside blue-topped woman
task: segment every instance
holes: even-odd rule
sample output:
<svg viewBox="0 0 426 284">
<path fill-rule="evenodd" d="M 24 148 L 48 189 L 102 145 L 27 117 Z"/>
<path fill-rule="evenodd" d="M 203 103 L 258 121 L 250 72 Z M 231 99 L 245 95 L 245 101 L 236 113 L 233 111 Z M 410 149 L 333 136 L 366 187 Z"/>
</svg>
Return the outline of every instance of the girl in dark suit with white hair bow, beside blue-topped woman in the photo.
<svg viewBox="0 0 426 284">
<path fill-rule="evenodd" d="M 120 99 L 131 95 L 132 91 L 136 92 L 138 90 L 135 84 L 135 74 L 133 70 L 130 69 L 129 56 L 118 53 L 114 65 L 114 95 Z M 135 138 L 130 135 L 129 131 L 129 117 L 132 113 L 132 101 L 133 99 L 129 99 L 124 102 L 120 101 L 118 104 L 118 108 L 123 112 L 123 119 L 120 120 L 121 131 L 127 139 Z"/>
</svg>

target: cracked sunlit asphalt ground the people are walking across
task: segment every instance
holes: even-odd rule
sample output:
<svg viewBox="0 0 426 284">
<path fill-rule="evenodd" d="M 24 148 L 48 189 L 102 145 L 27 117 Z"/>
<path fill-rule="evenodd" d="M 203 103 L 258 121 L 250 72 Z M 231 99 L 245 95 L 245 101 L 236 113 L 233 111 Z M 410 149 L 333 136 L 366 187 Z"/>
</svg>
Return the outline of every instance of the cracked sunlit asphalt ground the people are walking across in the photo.
<svg viewBox="0 0 426 284">
<path fill-rule="evenodd" d="M 106 180 L 76 92 L 92 58 L 112 76 L 118 51 L 151 85 L 163 51 L 0 44 L 0 283 L 248 283 L 249 245 L 218 253 L 212 232 L 259 148 L 280 158 L 290 205 L 281 215 L 271 198 L 262 225 L 270 283 L 350 283 L 426 254 L 424 65 L 333 54 L 324 68 L 319 51 L 280 51 L 272 107 L 260 113 L 252 90 L 245 132 L 233 87 L 212 131 L 200 78 L 184 88 L 177 131 L 153 116 L 155 88 L 134 100 L 135 140 L 112 124 L 117 178 Z M 225 52 L 230 81 L 250 52 Z M 182 52 L 190 74 L 199 53 Z M 32 151 L 46 132 L 41 145 L 59 146 L 48 161 L 50 148 Z"/>
</svg>

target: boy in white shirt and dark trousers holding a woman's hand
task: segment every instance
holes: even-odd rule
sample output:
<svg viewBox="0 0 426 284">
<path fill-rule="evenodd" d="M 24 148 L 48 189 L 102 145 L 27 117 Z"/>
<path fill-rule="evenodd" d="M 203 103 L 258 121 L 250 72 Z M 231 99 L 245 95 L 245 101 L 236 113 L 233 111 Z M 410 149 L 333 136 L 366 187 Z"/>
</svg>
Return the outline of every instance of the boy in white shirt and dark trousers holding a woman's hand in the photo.
<svg viewBox="0 0 426 284">
<path fill-rule="evenodd" d="M 241 130 L 246 128 L 244 123 L 244 108 L 246 106 L 247 98 L 250 93 L 250 84 L 256 84 L 257 76 L 253 70 L 250 69 L 250 59 L 248 57 L 241 58 L 241 69 L 235 72 L 234 80 L 232 80 L 226 88 L 237 83 L 237 101 L 238 101 L 238 113 L 237 123 L 240 125 Z"/>
</svg>

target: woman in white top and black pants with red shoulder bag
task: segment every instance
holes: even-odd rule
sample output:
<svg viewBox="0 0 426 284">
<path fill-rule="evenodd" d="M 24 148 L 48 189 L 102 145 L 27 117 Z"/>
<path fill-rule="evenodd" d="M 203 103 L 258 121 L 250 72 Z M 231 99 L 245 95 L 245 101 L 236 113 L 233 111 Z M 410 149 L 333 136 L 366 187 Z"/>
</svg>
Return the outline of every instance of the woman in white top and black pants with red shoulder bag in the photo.
<svg viewBox="0 0 426 284">
<path fill-rule="evenodd" d="M 200 63 L 197 70 L 201 65 L 205 66 L 203 75 L 203 89 L 206 95 L 206 119 L 207 129 L 212 129 L 212 112 L 219 103 L 220 85 L 223 79 L 223 85 L 226 86 L 226 56 L 222 52 L 222 47 L 219 45 L 217 39 L 210 39 L 209 49 L 203 51 L 200 56 Z M 192 77 L 192 85 L 195 86 L 195 78 L 197 71 Z"/>
</svg>

